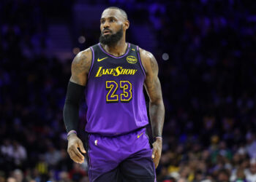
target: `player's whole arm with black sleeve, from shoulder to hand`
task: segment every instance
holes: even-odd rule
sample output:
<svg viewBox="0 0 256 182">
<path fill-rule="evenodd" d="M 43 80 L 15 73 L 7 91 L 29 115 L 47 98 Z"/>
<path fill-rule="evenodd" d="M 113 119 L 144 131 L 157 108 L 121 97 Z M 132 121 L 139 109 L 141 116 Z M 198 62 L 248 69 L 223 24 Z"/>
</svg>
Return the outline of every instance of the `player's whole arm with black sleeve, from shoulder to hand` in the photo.
<svg viewBox="0 0 256 182">
<path fill-rule="evenodd" d="M 67 132 L 77 131 L 79 122 L 79 105 L 83 97 L 84 89 L 88 79 L 89 70 L 91 67 L 91 50 L 87 49 L 79 52 L 72 61 L 71 78 L 67 86 L 67 97 L 64 104 L 64 124 Z M 86 150 L 83 143 L 78 138 L 76 132 L 68 135 L 67 152 L 74 162 L 83 163 L 83 154 Z M 80 149 L 80 151 L 78 150 Z"/>
</svg>

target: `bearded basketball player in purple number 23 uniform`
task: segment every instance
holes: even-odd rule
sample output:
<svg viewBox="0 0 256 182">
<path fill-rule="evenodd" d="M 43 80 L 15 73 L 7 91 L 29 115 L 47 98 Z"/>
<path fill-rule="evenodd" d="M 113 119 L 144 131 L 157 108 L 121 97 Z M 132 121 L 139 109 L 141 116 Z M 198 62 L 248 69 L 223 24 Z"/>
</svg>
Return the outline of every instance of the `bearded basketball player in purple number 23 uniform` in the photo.
<svg viewBox="0 0 256 182">
<path fill-rule="evenodd" d="M 72 61 L 64 105 L 67 151 L 78 163 L 87 153 L 90 181 L 155 181 L 154 167 L 161 157 L 165 108 L 157 60 L 126 41 L 128 28 L 124 10 L 105 9 L 100 19 L 99 44 L 80 52 Z M 153 149 L 146 135 L 143 85 L 150 98 Z M 84 92 L 88 105 L 86 149 L 76 133 Z"/>
</svg>

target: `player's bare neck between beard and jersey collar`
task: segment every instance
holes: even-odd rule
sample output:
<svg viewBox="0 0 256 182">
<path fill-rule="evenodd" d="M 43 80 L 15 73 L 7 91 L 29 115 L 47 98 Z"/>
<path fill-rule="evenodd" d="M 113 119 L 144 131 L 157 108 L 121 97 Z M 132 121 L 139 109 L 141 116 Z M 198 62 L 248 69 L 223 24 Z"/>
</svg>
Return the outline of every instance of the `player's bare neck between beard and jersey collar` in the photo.
<svg viewBox="0 0 256 182">
<path fill-rule="evenodd" d="M 116 57 L 124 55 L 127 51 L 128 44 L 125 42 L 125 39 L 121 39 L 115 45 L 105 45 L 102 44 L 103 49 L 108 52 L 110 55 L 114 55 Z"/>
</svg>

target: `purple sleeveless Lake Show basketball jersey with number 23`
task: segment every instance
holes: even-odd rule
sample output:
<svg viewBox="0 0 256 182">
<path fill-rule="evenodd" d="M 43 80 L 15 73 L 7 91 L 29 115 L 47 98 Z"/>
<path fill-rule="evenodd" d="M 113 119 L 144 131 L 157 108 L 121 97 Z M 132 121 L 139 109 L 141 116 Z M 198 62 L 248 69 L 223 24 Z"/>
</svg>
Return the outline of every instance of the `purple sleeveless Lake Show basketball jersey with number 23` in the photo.
<svg viewBox="0 0 256 182">
<path fill-rule="evenodd" d="M 90 48 L 93 58 L 86 85 L 86 131 L 120 135 L 146 126 L 146 75 L 138 46 L 128 44 L 120 57 L 108 54 L 100 44 Z"/>
</svg>

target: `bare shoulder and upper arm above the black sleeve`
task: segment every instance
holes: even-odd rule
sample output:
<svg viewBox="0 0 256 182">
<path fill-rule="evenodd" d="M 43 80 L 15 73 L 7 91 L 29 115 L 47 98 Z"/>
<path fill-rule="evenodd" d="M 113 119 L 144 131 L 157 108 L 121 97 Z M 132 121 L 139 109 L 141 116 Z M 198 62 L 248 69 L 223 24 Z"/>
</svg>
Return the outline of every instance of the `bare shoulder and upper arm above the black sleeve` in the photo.
<svg viewBox="0 0 256 182">
<path fill-rule="evenodd" d="M 71 82 L 86 86 L 91 60 L 92 53 L 90 48 L 79 52 L 78 55 L 75 56 L 71 66 Z"/>
</svg>

